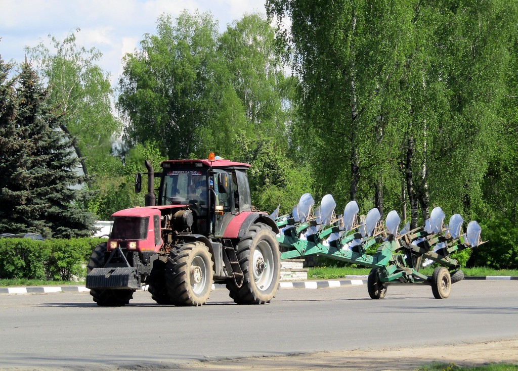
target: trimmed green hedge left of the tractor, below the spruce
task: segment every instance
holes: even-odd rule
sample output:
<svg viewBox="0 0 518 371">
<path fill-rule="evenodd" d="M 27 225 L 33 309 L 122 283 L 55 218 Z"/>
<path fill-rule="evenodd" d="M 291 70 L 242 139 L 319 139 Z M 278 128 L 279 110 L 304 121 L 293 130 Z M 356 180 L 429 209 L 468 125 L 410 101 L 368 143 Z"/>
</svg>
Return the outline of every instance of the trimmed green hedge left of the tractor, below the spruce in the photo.
<svg viewBox="0 0 518 371">
<path fill-rule="evenodd" d="M 69 281 L 86 275 L 92 250 L 106 239 L 0 239 L 0 279 Z"/>
</svg>

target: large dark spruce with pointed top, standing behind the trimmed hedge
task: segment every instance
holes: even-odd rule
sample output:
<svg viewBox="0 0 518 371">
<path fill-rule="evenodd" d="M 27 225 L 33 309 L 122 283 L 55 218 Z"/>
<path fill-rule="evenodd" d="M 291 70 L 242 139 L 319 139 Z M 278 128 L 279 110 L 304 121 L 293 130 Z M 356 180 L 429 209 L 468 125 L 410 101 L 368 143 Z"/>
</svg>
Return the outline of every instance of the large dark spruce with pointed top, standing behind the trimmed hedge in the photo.
<svg viewBox="0 0 518 371">
<path fill-rule="evenodd" d="M 84 210 L 88 191 L 79 189 L 84 176 L 75 169 L 72 141 L 60 129 L 62 115 L 48 105 L 47 92 L 30 63 L 21 65 L 16 88 L 13 127 L 18 143 L 7 158 L 10 169 L 0 196 L 0 229 L 71 238 L 92 234 L 94 217 Z"/>
</svg>

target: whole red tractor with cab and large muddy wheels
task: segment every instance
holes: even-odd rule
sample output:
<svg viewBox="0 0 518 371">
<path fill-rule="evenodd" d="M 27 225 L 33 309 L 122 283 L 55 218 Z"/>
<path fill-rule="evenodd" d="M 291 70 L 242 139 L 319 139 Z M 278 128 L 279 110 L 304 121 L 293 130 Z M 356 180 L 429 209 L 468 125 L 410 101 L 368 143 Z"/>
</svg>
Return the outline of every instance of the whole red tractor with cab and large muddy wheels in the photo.
<svg viewBox="0 0 518 371">
<path fill-rule="evenodd" d="M 225 283 L 238 304 L 264 304 L 280 278 L 275 221 L 253 212 L 248 164 L 216 159 L 166 160 L 148 169 L 146 206 L 114 213 L 107 243 L 88 263 L 87 288 L 102 306 L 128 304 L 148 285 L 159 304 L 197 306 Z M 154 178 L 160 177 L 158 198 Z M 141 188 L 137 174 L 135 191 Z"/>
</svg>

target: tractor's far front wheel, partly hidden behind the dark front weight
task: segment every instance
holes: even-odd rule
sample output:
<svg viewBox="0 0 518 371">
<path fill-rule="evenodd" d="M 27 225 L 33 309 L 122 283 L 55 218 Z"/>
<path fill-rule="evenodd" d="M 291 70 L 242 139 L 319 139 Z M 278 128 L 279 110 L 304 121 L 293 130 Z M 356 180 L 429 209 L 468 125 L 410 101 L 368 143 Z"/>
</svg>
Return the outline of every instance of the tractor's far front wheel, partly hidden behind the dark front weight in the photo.
<svg viewBox="0 0 518 371">
<path fill-rule="evenodd" d="M 99 244 L 88 261 L 87 274 L 94 268 L 103 268 L 105 264 L 106 243 Z M 98 306 L 123 306 L 133 299 L 133 289 L 90 289 L 90 295 Z"/>
</svg>

